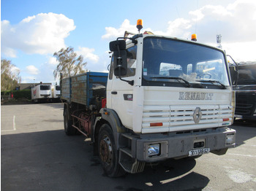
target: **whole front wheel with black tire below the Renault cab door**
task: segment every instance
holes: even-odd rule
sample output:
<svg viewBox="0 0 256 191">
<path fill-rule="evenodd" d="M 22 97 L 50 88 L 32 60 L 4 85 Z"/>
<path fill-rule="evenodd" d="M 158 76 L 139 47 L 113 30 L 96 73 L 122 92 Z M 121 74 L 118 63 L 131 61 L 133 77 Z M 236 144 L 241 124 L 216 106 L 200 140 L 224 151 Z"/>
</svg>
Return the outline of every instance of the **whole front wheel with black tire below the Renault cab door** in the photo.
<svg viewBox="0 0 256 191">
<path fill-rule="evenodd" d="M 118 151 L 110 125 L 104 124 L 99 130 L 99 160 L 105 174 L 109 177 L 124 176 L 126 172 L 118 163 Z"/>
</svg>

